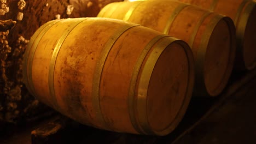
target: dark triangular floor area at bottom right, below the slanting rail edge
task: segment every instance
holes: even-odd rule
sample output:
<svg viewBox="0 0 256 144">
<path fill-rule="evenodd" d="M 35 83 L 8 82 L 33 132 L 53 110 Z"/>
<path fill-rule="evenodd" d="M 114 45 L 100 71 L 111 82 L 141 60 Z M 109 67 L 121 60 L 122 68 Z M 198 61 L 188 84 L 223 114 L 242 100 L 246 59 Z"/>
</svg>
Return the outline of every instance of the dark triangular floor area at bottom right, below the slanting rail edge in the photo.
<svg viewBox="0 0 256 144">
<path fill-rule="evenodd" d="M 176 144 L 256 143 L 256 78 L 226 99 Z"/>
</svg>

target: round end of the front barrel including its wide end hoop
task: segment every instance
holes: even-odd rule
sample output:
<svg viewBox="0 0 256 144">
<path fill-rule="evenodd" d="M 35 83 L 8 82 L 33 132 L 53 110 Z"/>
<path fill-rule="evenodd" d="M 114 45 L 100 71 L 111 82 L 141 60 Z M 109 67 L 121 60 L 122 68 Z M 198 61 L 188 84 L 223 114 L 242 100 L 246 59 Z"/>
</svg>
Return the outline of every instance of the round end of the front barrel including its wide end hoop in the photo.
<svg viewBox="0 0 256 144">
<path fill-rule="evenodd" d="M 168 38 L 150 51 L 139 76 L 138 119 L 146 134 L 167 135 L 176 128 L 187 110 L 194 85 L 190 47 L 181 40 L 170 44 Z"/>
</svg>

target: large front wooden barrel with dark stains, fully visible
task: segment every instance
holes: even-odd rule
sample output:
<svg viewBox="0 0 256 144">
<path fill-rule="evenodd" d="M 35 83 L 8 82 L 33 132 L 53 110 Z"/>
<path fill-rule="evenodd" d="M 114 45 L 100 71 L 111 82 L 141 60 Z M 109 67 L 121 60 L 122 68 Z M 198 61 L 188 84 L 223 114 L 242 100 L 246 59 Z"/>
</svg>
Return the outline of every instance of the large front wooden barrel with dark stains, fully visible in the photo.
<svg viewBox="0 0 256 144">
<path fill-rule="evenodd" d="M 187 43 L 120 20 L 54 20 L 24 58 L 24 82 L 43 103 L 92 127 L 166 135 L 181 121 L 194 85 Z"/>
</svg>

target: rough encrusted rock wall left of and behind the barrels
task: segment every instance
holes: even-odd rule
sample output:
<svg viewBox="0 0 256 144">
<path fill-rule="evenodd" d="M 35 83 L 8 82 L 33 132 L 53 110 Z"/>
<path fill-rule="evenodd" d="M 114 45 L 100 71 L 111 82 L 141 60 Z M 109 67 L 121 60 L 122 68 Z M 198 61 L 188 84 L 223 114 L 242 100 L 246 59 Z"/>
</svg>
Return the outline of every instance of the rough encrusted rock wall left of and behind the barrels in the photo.
<svg viewBox="0 0 256 144">
<path fill-rule="evenodd" d="M 0 122 L 44 110 L 22 83 L 22 57 L 37 28 L 54 19 L 97 16 L 117 1 L 122 0 L 0 0 Z"/>
</svg>

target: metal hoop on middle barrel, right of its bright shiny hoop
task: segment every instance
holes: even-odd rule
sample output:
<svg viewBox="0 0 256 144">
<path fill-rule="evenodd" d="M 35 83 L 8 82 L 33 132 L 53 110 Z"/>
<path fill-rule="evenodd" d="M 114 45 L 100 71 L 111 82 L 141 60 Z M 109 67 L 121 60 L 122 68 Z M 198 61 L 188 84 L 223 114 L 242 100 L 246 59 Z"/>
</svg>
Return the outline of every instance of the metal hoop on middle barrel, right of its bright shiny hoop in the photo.
<svg viewBox="0 0 256 144">
<path fill-rule="evenodd" d="M 185 4 L 185 3 L 181 3 L 178 5 L 178 7 L 174 10 L 174 12 L 171 14 L 171 16 L 169 17 L 166 26 L 164 28 L 164 34 L 168 34 L 170 31 L 170 28 L 172 26 L 172 22 L 175 20 L 175 18 L 178 16 L 178 14 L 185 8 L 188 7 L 189 4 Z"/>
</svg>

